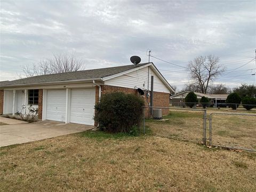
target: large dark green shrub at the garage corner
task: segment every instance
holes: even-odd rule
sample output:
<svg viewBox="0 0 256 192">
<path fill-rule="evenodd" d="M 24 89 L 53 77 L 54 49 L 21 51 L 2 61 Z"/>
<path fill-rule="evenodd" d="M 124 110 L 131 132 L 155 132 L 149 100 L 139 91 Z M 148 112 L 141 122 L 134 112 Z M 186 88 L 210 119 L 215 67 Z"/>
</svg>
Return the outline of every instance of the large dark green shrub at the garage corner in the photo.
<svg viewBox="0 0 256 192">
<path fill-rule="evenodd" d="M 114 92 L 102 95 L 95 105 L 95 121 L 107 132 L 135 133 L 143 117 L 144 101 L 134 94 Z"/>
</svg>

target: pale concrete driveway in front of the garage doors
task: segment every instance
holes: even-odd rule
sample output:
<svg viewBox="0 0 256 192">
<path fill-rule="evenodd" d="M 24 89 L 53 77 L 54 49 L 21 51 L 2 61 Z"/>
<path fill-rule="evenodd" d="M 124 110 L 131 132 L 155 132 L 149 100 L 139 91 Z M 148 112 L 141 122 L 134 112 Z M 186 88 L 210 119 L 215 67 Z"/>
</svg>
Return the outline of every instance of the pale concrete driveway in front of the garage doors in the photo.
<svg viewBox="0 0 256 192">
<path fill-rule="evenodd" d="M 0 121 L 3 121 L 3 117 L 1 117 Z M 9 121 L 6 118 L 4 118 L 4 123 L 8 125 L 0 126 L 0 147 L 82 132 L 93 129 L 94 127 L 48 120 L 24 123 L 22 121 L 17 122 L 17 120 L 13 121 L 13 119 Z"/>
</svg>

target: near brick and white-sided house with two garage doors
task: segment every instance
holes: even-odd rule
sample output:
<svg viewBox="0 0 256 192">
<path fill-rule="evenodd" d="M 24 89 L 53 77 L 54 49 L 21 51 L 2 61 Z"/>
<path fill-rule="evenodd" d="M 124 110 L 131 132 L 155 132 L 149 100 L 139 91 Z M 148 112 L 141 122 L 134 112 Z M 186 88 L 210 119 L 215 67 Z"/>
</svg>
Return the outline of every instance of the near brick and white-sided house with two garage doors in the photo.
<svg viewBox="0 0 256 192">
<path fill-rule="evenodd" d="M 42 120 L 94 125 L 94 105 L 102 94 L 116 91 L 138 94 L 138 88 L 148 89 L 148 81 L 150 91 L 151 76 L 154 76 L 154 106 L 169 107 L 173 89 L 149 62 L 0 82 L 0 114 L 14 115 L 23 105 L 27 108 L 33 105 Z M 143 98 L 149 103 L 146 91 Z M 163 114 L 167 113 L 168 110 L 163 110 Z"/>
</svg>

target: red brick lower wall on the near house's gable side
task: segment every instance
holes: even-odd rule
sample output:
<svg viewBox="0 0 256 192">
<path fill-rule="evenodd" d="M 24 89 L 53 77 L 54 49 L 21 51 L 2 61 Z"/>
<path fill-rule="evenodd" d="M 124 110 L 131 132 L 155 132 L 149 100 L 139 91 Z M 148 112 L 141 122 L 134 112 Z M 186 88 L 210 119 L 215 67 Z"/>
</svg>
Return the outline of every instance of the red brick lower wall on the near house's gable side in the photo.
<svg viewBox="0 0 256 192">
<path fill-rule="evenodd" d="M 138 94 L 137 90 L 135 89 L 130 89 L 130 88 L 125 88 L 125 87 L 117 87 L 117 86 L 110 86 L 110 85 L 101 85 L 101 95 L 106 94 L 106 93 L 112 93 L 112 92 L 124 92 L 127 94 Z M 96 87 L 96 94 L 95 94 L 95 101 L 99 101 L 99 87 Z M 155 92 L 153 94 L 153 106 L 155 107 L 169 107 L 169 100 L 170 100 L 170 94 L 169 93 L 161 93 L 161 92 Z M 146 106 L 149 106 L 150 102 L 150 97 L 147 99 L 146 98 L 146 93 L 145 93 L 145 104 Z M 148 101 L 148 102 L 147 102 Z M 167 115 L 169 113 L 168 109 L 162 109 L 163 115 Z M 149 108 L 146 108 L 145 111 L 146 117 L 149 117 Z"/>
</svg>

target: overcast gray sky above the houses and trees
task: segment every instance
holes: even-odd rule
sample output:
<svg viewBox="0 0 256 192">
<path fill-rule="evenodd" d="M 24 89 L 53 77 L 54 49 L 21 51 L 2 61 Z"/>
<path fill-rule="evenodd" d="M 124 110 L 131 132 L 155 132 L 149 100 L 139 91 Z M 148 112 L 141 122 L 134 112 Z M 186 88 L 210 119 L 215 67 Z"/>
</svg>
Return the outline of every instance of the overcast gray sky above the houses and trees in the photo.
<svg viewBox="0 0 256 192">
<path fill-rule="evenodd" d="M 151 49 L 185 67 L 214 54 L 227 68 L 215 83 L 253 84 L 255 10 L 256 1 L 1 1 L 1 81 L 52 53 L 74 52 L 92 69 L 147 62 Z M 188 82 L 183 68 L 151 61 L 171 85 Z"/>
</svg>

